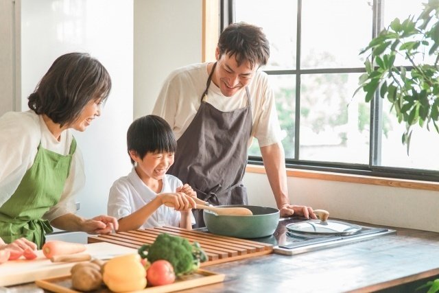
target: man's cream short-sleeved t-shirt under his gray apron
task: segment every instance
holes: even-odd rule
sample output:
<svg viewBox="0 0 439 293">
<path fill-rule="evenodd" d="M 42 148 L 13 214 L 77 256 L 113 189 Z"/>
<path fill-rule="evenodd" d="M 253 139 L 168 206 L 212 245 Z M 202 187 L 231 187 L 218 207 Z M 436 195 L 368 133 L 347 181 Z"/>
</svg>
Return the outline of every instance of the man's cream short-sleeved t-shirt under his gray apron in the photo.
<svg viewBox="0 0 439 293">
<path fill-rule="evenodd" d="M 201 104 L 201 95 L 206 89 L 209 78 L 207 65 L 201 63 L 181 67 L 173 71 L 158 95 L 152 113 L 163 117 L 171 126 L 176 139 L 185 132 Z M 271 145 L 281 141 L 279 126 L 274 104 L 274 93 L 268 84 L 268 75 L 257 71 L 248 84 L 252 110 L 252 137 L 256 137 L 259 146 Z M 219 88 L 211 82 L 206 102 L 223 112 L 244 108 L 247 106 L 246 90 L 242 89 L 232 97 L 222 95 Z"/>
</svg>

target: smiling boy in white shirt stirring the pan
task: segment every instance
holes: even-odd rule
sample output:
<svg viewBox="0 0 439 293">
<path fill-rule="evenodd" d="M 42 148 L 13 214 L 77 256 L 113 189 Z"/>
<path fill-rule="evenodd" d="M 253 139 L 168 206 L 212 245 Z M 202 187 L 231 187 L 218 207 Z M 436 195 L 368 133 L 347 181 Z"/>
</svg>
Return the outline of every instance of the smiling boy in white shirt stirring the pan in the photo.
<svg viewBox="0 0 439 293">
<path fill-rule="evenodd" d="M 155 115 L 136 119 L 128 128 L 127 145 L 134 167 L 113 183 L 108 198 L 108 214 L 118 219 L 119 231 L 165 225 L 191 228 L 195 191 L 166 174 L 177 150 L 169 124 Z"/>
</svg>

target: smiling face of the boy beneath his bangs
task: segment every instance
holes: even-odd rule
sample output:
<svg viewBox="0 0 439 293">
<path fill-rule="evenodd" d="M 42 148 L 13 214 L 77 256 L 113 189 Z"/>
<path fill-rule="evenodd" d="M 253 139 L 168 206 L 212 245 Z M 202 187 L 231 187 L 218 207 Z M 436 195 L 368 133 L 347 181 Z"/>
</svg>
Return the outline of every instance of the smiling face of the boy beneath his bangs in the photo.
<svg viewBox="0 0 439 293">
<path fill-rule="evenodd" d="M 143 159 L 131 153 L 130 155 L 137 162 L 137 174 L 143 181 L 161 180 L 167 169 L 174 164 L 174 152 L 148 152 Z"/>
</svg>

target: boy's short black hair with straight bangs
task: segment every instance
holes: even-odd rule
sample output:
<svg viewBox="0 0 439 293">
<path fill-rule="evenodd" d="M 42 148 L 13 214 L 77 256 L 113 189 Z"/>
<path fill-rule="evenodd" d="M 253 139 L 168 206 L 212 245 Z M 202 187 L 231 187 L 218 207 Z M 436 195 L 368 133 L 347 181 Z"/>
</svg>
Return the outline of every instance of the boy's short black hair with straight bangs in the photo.
<svg viewBox="0 0 439 293">
<path fill-rule="evenodd" d="M 143 159 L 148 152 L 176 152 L 177 141 L 171 126 L 156 115 L 146 115 L 132 122 L 126 134 L 128 154 L 130 150 Z M 131 163 L 134 161 L 131 158 Z"/>
</svg>

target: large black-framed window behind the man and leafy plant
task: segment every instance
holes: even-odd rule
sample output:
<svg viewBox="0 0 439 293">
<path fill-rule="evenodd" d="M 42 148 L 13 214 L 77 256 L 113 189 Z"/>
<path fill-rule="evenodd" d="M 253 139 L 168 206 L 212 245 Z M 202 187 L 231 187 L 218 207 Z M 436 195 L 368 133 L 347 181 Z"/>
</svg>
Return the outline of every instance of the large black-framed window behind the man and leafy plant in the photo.
<svg viewBox="0 0 439 293">
<path fill-rule="evenodd" d="M 233 8 L 223 19 L 263 27 L 270 40 L 270 60 L 260 70 L 276 96 L 288 167 L 439 179 L 435 130 L 414 130 L 407 154 L 390 104 L 366 103 L 362 91 L 353 96 L 365 72 L 361 49 L 394 18 L 418 16 L 425 1 L 223 1 Z M 261 163 L 257 141 L 249 155 Z"/>
</svg>

